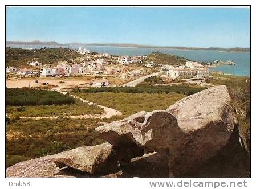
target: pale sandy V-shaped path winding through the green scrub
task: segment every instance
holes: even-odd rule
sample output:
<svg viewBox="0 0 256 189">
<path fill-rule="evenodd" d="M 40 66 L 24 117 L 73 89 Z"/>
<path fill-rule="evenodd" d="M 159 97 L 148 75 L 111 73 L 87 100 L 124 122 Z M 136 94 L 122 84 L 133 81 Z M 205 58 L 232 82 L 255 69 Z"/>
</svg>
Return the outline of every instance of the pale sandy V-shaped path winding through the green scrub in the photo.
<svg viewBox="0 0 256 189">
<path fill-rule="evenodd" d="M 64 95 L 67 94 L 67 92 L 63 92 L 63 91 L 60 91 L 58 89 L 55 89 L 54 91 L 57 91 L 59 93 L 62 93 Z M 95 104 L 94 102 L 90 102 L 90 101 L 87 101 L 87 100 L 84 100 L 83 98 L 79 98 L 77 96 L 74 96 L 74 95 L 70 95 L 72 96 L 73 98 L 78 98 L 79 100 L 81 100 L 83 103 L 87 103 L 89 105 L 96 105 L 96 106 L 99 106 L 100 108 L 103 108 L 104 109 L 104 112 L 103 114 L 83 114 L 83 115 L 78 115 L 78 116 L 63 116 L 63 118 L 71 118 L 71 119 L 87 119 L 87 118 L 111 118 L 112 116 L 121 116 L 121 112 L 115 110 L 115 109 L 112 109 L 112 108 L 108 108 L 108 107 L 105 107 L 105 106 L 101 106 L 99 104 Z M 53 119 L 56 119 L 58 118 L 59 116 L 49 116 L 49 117 L 20 117 L 21 119 L 35 119 L 35 120 L 42 120 L 42 119 L 50 119 L 50 120 L 53 120 Z"/>
</svg>

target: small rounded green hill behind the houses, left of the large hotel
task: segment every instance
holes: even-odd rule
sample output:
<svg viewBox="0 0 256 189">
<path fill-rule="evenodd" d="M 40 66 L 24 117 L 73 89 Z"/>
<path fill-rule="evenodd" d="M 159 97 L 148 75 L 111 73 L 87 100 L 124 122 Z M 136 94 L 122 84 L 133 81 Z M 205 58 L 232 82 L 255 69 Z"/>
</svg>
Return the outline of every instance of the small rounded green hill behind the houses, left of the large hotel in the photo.
<svg viewBox="0 0 256 189">
<path fill-rule="evenodd" d="M 188 61 L 184 57 L 176 55 L 168 55 L 161 52 L 152 52 L 147 55 L 148 61 L 153 61 L 156 64 L 167 64 L 167 65 L 183 65 Z"/>
</svg>

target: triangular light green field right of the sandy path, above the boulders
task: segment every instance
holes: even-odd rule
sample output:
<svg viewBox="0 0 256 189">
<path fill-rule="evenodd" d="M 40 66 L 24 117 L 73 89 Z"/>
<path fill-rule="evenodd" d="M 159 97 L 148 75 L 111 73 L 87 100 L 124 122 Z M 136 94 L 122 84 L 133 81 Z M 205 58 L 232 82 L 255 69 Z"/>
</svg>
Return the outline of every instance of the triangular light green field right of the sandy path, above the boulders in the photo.
<svg viewBox="0 0 256 189">
<path fill-rule="evenodd" d="M 117 109 L 123 113 L 123 117 L 130 116 L 141 110 L 152 111 L 166 109 L 185 95 L 177 93 L 84 93 L 76 92 L 74 95 L 97 104 Z"/>
</svg>

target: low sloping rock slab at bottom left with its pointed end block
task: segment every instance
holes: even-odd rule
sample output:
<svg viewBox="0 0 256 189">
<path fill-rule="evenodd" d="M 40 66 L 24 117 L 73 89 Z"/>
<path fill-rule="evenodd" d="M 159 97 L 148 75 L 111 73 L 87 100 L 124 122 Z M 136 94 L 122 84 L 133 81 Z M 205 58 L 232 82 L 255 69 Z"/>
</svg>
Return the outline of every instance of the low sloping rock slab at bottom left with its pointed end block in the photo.
<svg viewBox="0 0 256 189">
<path fill-rule="evenodd" d="M 111 172 L 121 163 L 129 162 L 133 157 L 143 155 L 141 149 L 116 149 L 109 143 L 97 146 L 83 146 L 17 163 L 6 169 L 7 177 L 56 177 L 55 174 L 66 167 L 88 174 Z"/>
</svg>

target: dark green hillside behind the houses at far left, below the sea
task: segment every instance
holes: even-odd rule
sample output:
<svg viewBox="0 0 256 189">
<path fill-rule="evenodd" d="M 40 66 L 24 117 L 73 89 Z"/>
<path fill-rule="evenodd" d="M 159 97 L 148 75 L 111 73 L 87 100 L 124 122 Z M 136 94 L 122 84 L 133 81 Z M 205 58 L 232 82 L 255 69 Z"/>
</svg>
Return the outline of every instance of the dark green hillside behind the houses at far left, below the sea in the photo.
<svg viewBox="0 0 256 189">
<path fill-rule="evenodd" d="M 37 50 L 26 50 L 21 48 L 6 47 L 6 66 L 19 67 L 26 65 L 27 61 L 38 60 L 41 63 L 55 63 L 60 60 L 76 59 L 81 55 L 67 48 L 41 48 Z"/>
</svg>

